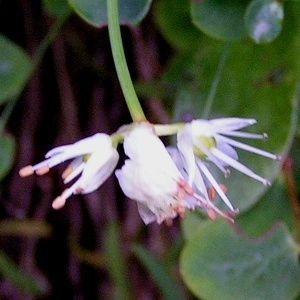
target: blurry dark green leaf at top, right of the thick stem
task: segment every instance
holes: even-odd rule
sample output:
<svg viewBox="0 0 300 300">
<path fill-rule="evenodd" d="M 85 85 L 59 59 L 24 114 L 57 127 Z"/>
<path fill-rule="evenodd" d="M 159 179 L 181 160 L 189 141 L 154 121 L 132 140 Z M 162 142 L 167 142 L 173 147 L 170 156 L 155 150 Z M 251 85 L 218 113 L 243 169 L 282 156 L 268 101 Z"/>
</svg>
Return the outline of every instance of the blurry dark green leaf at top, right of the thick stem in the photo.
<svg viewBox="0 0 300 300">
<path fill-rule="evenodd" d="M 159 30 L 174 48 L 190 51 L 201 42 L 202 35 L 190 17 L 189 1 L 160 0 L 154 16 Z"/>
</svg>

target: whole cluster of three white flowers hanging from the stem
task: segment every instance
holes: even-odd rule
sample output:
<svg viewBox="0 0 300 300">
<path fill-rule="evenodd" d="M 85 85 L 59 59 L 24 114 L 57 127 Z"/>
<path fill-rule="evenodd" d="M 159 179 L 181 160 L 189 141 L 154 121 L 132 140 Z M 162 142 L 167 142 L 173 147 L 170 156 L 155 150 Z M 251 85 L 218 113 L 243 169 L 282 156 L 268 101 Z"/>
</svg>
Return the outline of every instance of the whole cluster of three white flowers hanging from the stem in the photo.
<svg viewBox="0 0 300 300">
<path fill-rule="evenodd" d="M 53 201 L 53 208 L 59 209 L 72 194 L 90 193 L 102 185 L 118 163 L 116 145 L 123 142 L 128 159 L 115 174 L 125 195 L 137 201 L 146 224 L 170 223 L 178 215 L 183 217 L 187 209 L 196 208 L 204 210 L 211 219 L 221 215 L 232 220 L 237 210 L 225 194 L 226 187 L 210 172 L 208 162 L 215 164 L 225 177 L 230 174 L 228 167 L 232 167 L 270 185 L 267 179 L 238 162 L 233 147 L 274 160 L 279 157 L 230 138 L 265 138 L 265 134 L 239 131 L 254 123 L 253 119 L 224 118 L 178 124 L 177 148 L 171 152 L 157 135 L 162 125 L 134 124 L 113 136 L 98 133 L 75 144 L 54 148 L 46 154 L 45 161 L 22 168 L 20 175 L 43 175 L 55 165 L 72 159 L 62 178 L 66 184 L 77 180 Z M 168 131 L 168 125 L 164 127 Z M 228 206 L 228 212 L 213 204 L 216 195 Z"/>
</svg>

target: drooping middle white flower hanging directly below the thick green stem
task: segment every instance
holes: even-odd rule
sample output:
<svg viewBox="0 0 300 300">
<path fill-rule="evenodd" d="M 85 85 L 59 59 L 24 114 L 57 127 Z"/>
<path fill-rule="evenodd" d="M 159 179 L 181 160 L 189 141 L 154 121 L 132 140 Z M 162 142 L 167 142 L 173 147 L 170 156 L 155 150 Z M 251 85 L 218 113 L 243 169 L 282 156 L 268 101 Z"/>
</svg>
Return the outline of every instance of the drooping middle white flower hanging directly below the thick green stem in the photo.
<svg viewBox="0 0 300 300">
<path fill-rule="evenodd" d="M 146 224 L 168 222 L 196 206 L 230 219 L 208 199 L 194 193 L 150 126 L 137 125 L 125 137 L 124 150 L 129 159 L 116 176 L 125 195 L 138 202 Z"/>
</svg>

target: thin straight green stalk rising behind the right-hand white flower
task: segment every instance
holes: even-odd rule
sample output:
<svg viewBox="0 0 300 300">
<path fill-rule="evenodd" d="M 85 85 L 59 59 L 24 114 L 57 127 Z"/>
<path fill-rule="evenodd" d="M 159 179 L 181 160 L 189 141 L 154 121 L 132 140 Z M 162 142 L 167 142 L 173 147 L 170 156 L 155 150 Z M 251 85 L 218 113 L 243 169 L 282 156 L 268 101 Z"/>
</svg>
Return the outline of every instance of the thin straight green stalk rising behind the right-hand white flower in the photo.
<svg viewBox="0 0 300 300">
<path fill-rule="evenodd" d="M 227 42 L 225 44 L 222 56 L 220 58 L 218 69 L 217 69 L 214 81 L 212 83 L 212 86 L 211 86 L 211 89 L 209 91 L 209 95 L 208 95 L 208 98 L 206 100 L 206 104 L 205 104 L 205 107 L 204 107 L 204 110 L 203 110 L 202 117 L 204 119 L 207 119 L 207 117 L 210 114 L 212 104 L 213 104 L 213 101 L 214 101 L 214 98 L 215 98 L 215 95 L 216 95 L 217 87 L 218 87 L 219 82 L 220 82 L 221 73 L 223 71 L 223 68 L 224 68 L 228 53 L 229 53 L 230 44 L 231 44 L 230 42 Z"/>
</svg>

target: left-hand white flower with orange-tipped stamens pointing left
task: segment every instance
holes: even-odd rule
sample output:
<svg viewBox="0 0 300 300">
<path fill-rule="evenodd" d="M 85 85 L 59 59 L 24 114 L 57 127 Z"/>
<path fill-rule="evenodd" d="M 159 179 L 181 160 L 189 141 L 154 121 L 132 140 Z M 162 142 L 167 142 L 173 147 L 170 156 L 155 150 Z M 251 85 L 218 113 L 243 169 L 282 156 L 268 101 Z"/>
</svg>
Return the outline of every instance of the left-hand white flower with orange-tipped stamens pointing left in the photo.
<svg viewBox="0 0 300 300">
<path fill-rule="evenodd" d="M 52 149 L 46 154 L 46 160 L 34 166 L 24 167 L 19 173 L 22 177 L 34 172 L 43 175 L 50 168 L 69 159 L 73 161 L 62 174 L 64 183 L 69 183 L 79 174 L 81 176 L 53 201 L 52 206 L 55 209 L 64 206 L 72 194 L 87 194 L 96 190 L 115 169 L 119 154 L 109 135 L 97 133 L 74 144 Z"/>
</svg>

